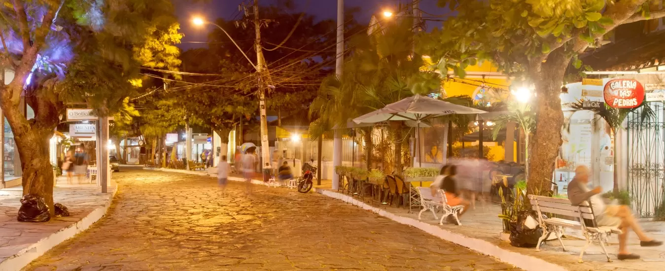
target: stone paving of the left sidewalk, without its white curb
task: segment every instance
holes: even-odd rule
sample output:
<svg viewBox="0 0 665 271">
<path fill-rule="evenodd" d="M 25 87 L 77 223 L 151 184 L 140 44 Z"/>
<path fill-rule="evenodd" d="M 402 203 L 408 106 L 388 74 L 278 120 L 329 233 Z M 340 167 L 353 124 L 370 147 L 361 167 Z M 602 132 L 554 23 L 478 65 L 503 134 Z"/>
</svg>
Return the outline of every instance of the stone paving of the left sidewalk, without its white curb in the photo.
<svg viewBox="0 0 665 271">
<path fill-rule="evenodd" d="M 109 188 L 109 191 L 114 189 Z M 59 178 L 54 189 L 55 203 L 68 208 L 70 217 L 56 217 L 45 223 L 25 223 L 16 220 L 21 207 L 20 196 L 0 196 L 0 262 L 14 256 L 39 240 L 77 223 L 98 207 L 106 205 L 111 193 L 102 194 L 94 184 L 67 185 Z"/>
</svg>

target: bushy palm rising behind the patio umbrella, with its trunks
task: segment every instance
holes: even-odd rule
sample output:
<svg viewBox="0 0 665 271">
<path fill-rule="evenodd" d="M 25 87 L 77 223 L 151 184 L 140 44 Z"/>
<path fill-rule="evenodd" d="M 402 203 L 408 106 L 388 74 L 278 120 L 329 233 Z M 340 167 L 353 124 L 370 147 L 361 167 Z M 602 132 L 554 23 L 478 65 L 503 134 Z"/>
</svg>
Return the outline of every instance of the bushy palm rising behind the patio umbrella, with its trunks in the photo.
<svg viewBox="0 0 665 271">
<path fill-rule="evenodd" d="M 318 119 L 310 126 L 313 136 L 332 127 L 346 127 L 348 120 L 383 108 L 414 93 L 438 92 L 440 76 L 421 71 L 424 62 L 413 52 L 414 33 L 410 20 L 384 26 L 383 31 L 356 37 L 350 42 L 350 60 L 340 78 L 331 76 L 321 84 L 310 108 Z M 395 172 L 402 171 L 402 122 L 391 124 L 395 149 Z M 364 131 L 366 149 L 371 149 L 371 128 Z M 370 166 L 370 151 L 367 151 Z"/>
</svg>

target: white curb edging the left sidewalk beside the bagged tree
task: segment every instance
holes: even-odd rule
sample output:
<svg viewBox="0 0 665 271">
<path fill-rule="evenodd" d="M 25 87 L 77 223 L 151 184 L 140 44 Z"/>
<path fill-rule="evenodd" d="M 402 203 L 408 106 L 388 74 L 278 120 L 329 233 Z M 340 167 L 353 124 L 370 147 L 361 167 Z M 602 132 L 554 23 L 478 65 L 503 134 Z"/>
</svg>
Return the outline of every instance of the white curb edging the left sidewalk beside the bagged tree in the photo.
<svg viewBox="0 0 665 271">
<path fill-rule="evenodd" d="M 111 195 L 108 198 L 108 201 L 106 201 L 106 204 L 104 206 L 97 207 L 80 221 L 69 225 L 66 228 L 61 228 L 61 230 L 54 232 L 46 238 L 39 240 L 35 244 L 24 248 L 14 256 L 9 256 L 9 258 L 0 262 L 0 271 L 21 270 L 21 268 L 27 266 L 33 260 L 39 258 L 39 256 L 42 256 L 54 246 L 57 246 L 61 242 L 64 242 L 65 240 L 74 237 L 74 235 L 88 229 L 92 224 L 96 223 L 99 219 L 106 215 L 106 211 L 108 211 L 108 207 L 111 206 L 117 191 L 118 188 L 113 187 L 113 191 L 110 191 Z"/>
</svg>

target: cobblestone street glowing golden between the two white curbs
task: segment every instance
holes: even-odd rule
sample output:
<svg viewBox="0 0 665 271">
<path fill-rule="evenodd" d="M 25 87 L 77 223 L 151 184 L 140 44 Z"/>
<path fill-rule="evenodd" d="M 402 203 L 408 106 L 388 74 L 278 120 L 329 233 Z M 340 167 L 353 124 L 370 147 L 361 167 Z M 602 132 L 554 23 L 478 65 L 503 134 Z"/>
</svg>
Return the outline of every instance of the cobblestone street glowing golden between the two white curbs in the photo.
<svg viewBox="0 0 665 271">
<path fill-rule="evenodd" d="M 114 173 L 107 216 L 25 270 L 513 270 L 322 195 L 161 171 Z"/>
</svg>

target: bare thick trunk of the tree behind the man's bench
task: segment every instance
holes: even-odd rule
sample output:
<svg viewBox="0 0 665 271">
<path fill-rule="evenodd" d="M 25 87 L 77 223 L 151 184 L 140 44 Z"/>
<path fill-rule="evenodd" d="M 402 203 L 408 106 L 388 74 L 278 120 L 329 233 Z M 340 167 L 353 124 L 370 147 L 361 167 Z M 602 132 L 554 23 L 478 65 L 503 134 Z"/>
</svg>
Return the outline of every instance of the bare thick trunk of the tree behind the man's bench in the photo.
<svg viewBox="0 0 665 271">
<path fill-rule="evenodd" d="M 570 60 L 571 57 L 563 52 L 563 48 L 558 48 L 551 52 L 547 62 L 534 62 L 529 66 L 537 93 L 535 104 L 531 107 L 536 111 L 537 121 L 536 132 L 530 144 L 533 147 L 529 153 L 529 194 L 542 195 L 551 191 L 550 181 L 562 143 L 563 111 L 559 94 Z"/>
</svg>

